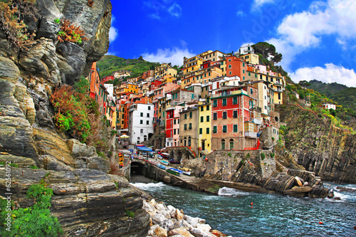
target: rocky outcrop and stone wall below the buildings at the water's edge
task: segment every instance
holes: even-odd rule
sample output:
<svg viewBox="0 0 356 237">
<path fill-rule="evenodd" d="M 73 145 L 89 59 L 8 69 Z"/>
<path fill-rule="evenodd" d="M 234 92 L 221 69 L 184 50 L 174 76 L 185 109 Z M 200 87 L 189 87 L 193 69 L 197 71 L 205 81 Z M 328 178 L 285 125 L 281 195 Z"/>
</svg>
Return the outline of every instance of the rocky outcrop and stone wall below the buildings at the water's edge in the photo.
<svg viewBox="0 0 356 237">
<path fill-rule="evenodd" d="M 216 184 L 244 191 L 275 191 L 315 198 L 325 198 L 329 192 L 313 172 L 286 167 L 278 172 L 275 154 L 268 150 L 214 151 L 206 158 L 207 161 L 184 160 L 183 165 Z"/>
</svg>

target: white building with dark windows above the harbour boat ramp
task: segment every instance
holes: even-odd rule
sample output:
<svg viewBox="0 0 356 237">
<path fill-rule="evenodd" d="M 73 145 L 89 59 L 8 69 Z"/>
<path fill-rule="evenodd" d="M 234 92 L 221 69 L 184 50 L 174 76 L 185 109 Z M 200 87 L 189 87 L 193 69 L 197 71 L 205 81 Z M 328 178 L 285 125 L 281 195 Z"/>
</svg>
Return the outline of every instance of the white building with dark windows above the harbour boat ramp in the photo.
<svg viewBox="0 0 356 237">
<path fill-rule="evenodd" d="M 140 144 L 148 141 L 153 135 L 153 104 L 131 105 L 128 121 L 128 135 L 130 144 Z"/>
</svg>

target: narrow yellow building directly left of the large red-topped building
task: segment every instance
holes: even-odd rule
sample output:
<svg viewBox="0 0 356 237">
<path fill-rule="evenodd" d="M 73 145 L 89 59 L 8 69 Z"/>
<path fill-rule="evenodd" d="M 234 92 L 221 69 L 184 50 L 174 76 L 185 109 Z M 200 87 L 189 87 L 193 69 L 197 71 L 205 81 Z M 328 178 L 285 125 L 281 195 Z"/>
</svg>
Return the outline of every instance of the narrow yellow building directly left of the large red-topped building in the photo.
<svg viewBox="0 0 356 237">
<path fill-rule="evenodd" d="M 211 152 L 211 107 L 210 103 L 199 102 L 198 105 L 198 150 L 203 157 Z"/>
</svg>

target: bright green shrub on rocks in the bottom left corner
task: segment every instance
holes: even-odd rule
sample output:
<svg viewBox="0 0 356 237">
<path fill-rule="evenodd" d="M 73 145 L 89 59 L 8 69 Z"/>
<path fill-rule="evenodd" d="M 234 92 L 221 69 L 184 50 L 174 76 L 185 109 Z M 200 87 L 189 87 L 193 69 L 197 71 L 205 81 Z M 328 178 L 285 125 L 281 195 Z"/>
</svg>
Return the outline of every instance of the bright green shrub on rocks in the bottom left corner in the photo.
<svg viewBox="0 0 356 237">
<path fill-rule="evenodd" d="M 63 233 L 58 219 L 50 212 L 52 189 L 46 184 L 33 184 L 27 191 L 27 198 L 33 199 L 33 206 L 11 211 L 11 232 L 6 231 L 5 218 L 7 199 L 1 199 L 1 236 L 59 236 Z M 11 204 L 14 206 L 14 204 Z"/>
</svg>

